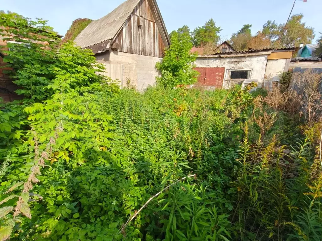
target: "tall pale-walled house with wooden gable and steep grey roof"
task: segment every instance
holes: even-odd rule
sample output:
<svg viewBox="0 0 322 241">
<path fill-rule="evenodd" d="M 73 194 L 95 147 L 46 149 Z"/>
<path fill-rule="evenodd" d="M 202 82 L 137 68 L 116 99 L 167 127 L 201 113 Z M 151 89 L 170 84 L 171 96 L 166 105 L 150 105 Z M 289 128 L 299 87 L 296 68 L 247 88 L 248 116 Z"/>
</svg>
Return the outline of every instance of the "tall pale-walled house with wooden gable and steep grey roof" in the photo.
<svg viewBox="0 0 322 241">
<path fill-rule="evenodd" d="M 155 65 L 170 45 L 156 0 L 127 0 L 92 21 L 74 41 L 93 51 L 107 76 L 138 90 L 155 84 L 159 75 Z"/>
</svg>

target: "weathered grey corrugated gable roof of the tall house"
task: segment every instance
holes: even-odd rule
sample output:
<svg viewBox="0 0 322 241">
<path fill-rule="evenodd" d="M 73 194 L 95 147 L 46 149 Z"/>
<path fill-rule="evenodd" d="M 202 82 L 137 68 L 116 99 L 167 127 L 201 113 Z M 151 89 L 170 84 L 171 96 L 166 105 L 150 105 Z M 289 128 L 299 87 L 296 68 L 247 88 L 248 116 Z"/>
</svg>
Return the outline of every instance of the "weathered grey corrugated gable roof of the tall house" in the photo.
<svg viewBox="0 0 322 241">
<path fill-rule="evenodd" d="M 125 1 L 106 16 L 92 21 L 83 31 L 81 31 L 74 41 L 81 48 L 87 48 L 107 40 L 113 40 L 139 2 L 140 0 Z M 151 2 L 155 5 L 156 14 L 159 15 L 160 18 L 160 30 L 163 29 L 165 38 L 168 41 L 168 44 L 170 44 L 170 38 L 156 0 L 151 0 Z"/>
</svg>

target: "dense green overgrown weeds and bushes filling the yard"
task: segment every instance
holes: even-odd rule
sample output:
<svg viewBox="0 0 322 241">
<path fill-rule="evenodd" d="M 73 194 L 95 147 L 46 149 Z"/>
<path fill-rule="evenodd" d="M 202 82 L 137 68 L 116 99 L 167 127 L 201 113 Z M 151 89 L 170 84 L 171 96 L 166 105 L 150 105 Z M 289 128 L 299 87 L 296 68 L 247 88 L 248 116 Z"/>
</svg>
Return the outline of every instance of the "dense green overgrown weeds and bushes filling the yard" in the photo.
<svg viewBox="0 0 322 241">
<path fill-rule="evenodd" d="M 321 240 L 320 75 L 138 93 L 71 43 L 12 47 L 26 98 L 1 104 L 0 240 Z"/>
</svg>

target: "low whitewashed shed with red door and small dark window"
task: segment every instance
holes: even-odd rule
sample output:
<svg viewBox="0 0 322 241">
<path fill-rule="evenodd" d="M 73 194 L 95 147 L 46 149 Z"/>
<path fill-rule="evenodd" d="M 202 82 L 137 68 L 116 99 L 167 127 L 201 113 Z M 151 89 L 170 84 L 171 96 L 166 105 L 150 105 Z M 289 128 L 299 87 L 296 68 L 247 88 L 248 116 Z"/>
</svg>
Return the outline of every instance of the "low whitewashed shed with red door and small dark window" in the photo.
<svg viewBox="0 0 322 241">
<path fill-rule="evenodd" d="M 199 56 L 195 61 L 200 73 L 198 84 L 214 88 L 228 88 L 233 84 L 257 82 L 271 87 L 281 72 L 289 69 L 296 48 L 251 49 Z"/>
</svg>

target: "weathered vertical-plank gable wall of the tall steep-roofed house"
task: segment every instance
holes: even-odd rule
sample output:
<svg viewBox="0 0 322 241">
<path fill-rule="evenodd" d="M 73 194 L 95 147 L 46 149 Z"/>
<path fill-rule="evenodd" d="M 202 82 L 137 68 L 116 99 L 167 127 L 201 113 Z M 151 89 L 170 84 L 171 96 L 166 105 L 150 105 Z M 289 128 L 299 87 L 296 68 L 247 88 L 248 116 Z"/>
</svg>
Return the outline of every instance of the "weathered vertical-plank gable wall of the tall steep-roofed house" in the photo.
<svg viewBox="0 0 322 241">
<path fill-rule="evenodd" d="M 147 0 L 140 0 L 114 43 L 119 44 L 118 51 L 121 52 L 163 57 L 165 43 Z"/>
</svg>

